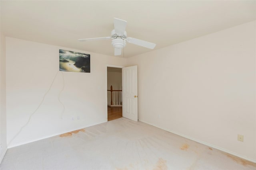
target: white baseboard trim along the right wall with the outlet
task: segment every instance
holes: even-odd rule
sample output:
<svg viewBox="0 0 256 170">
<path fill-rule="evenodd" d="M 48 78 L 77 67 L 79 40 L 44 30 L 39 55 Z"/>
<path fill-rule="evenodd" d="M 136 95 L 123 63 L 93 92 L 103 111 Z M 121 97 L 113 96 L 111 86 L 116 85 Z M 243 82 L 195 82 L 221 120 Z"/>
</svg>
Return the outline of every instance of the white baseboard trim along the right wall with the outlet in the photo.
<svg viewBox="0 0 256 170">
<path fill-rule="evenodd" d="M 201 144 L 206 145 L 206 146 L 208 146 L 208 147 L 211 147 L 211 148 L 214 148 L 214 149 L 218 149 L 218 150 L 221 150 L 221 151 L 223 151 L 223 152 L 226 152 L 226 153 L 232 154 L 232 155 L 234 155 L 234 156 L 237 156 L 237 157 L 239 157 L 239 158 L 242 158 L 242 159 L 248 160 L 248 161 L 250 161 L 250 162 L 256 163 L 256 160 L 247 158 L 247 157 L 245 157 L 245 156 L 241 156 L 241 155 L 236 154 L 236 153 L 234 153 L 234 152 L 232 152 L 232 151 L 230 151 L 230 150 L 226 150 L 226 149 L 221 148 L 221 147 L 218 147 L 218 146 L 216 146 L 216 145 L 212 145 L 212 144 L 210 144 L 210 143 L 206 143 L 206 142 L 204 142 L 204 141 L 200 141 L 200 140 L 198 140 L 198 139 L 189 137 L 189 136 L 187 136 L 187 135 L 183 135 L 183 134 L 181 134 L 181 133 L 178 133 L 178 132 L 175 132 L 175 131 L 171 131 L 170 129 L 166 129 L 166 128 L 164 128 L 164 127 L 160 127 L 160 126 L 158 126 L 158 125 L 155 125 L 154 123 L 149 123 L 149 122 L 144 121 L 144 120 L 141 120 L 141 119 L 139 119 L 139 121 L 141 121 L 141 122 L 143 122 L 143 123 L 147 123 L 147 124 L 152 125 L 152 126 L 154 126 L 154 127 L 158 127 L 158 128 L 160 128 L 160 129 L 163 129 L 163 130 L 168 131 L 168 132 L 170 132 L 170 133 L 174 133 L 174 134 L 179 135 L 179 136 L 181 136 L 181 137 L 184 137 L 184 138 L 186 138 L 186 139 L 190 139 L 190 140 L 192 140 L 192 141 L 201 143 Z"/>
</svg>

